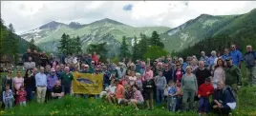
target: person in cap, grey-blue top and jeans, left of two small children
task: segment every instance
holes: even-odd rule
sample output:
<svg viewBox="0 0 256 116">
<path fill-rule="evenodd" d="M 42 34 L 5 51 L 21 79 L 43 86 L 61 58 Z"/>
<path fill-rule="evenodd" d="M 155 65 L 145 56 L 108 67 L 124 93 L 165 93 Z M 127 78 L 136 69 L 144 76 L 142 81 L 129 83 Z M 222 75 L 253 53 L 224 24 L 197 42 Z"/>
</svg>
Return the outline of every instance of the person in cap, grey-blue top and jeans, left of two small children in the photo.
<svg viewBox="0 0 256 116">
<path fill-rule="evenodd" d="M 162 74 L 162 70 L 159 70 L 159 75 L 154 79 L 157 87 L 157 106 L 159 106 L 164 101 L 164 88 L 167 85 L 166 79 Z"/>
</svg>

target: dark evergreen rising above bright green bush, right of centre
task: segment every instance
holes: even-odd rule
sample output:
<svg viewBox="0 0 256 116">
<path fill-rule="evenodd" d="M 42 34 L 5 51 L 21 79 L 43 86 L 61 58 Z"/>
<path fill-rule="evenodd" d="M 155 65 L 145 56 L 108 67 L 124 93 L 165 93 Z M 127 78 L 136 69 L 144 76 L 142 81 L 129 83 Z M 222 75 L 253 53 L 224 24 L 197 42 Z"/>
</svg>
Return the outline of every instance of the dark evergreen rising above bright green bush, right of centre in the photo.
<svg viewBox="0 0 256 116">
<path fill-rule="evenodd" d="M 152 36 L 149 41 L 150 46 L 157 46 L 160 48 L 164 48 L 164 45 L 162 42 L 160 42 L 160 35 L 157 31 L 152 32 Z"/>
</svg>

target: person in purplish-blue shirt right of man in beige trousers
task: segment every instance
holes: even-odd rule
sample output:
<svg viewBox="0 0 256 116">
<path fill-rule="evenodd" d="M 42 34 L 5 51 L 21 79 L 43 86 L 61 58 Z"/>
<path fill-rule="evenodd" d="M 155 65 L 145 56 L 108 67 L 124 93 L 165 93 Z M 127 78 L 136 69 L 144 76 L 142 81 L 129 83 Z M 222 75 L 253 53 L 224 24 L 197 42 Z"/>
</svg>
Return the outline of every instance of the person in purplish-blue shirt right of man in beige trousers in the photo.
<svg viewBox="0 0 256 116">
<path fill-rule="evenodd" d="M 57 80 L 58 80 L 58 77 L 56 75 L 56 70 L 54 68 L 51 68 L 51 72 L 47 75 L 46 101 L 51 100 L 52 89 Z"/>
</svg>

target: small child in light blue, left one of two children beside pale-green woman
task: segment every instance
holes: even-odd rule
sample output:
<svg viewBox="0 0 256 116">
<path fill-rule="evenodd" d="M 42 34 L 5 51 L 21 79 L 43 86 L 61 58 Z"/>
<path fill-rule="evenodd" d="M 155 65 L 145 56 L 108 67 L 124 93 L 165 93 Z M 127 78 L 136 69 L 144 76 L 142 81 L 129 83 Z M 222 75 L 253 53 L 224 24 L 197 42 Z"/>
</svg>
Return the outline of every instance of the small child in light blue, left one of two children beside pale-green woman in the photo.
<svg viewBox="0 0 256 116">
<path fill-rule="evenodd" d="M 167 106 L 169 111 L 175 111 L 177 103 L 177 87 L 173 81 L 168 83 L 168 99 Z"/>
</svg>

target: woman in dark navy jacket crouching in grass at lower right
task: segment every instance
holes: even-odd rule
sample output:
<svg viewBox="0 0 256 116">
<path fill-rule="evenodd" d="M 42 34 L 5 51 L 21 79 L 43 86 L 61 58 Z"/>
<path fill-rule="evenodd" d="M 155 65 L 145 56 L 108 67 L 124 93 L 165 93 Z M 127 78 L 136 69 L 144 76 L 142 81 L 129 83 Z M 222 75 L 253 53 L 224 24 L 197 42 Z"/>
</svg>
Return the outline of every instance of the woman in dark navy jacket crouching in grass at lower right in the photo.
<svg viewBox="0 0 256 116">
<path fill-rule="evenodd" d="M 213 111 L 219 115 L 227 115 L 236 107 L 236 98 L 231 90 L 231 87 L 225 87 L 223 81 L 219 81 L 217 89 L 213 94 Z"/>
</svg>

